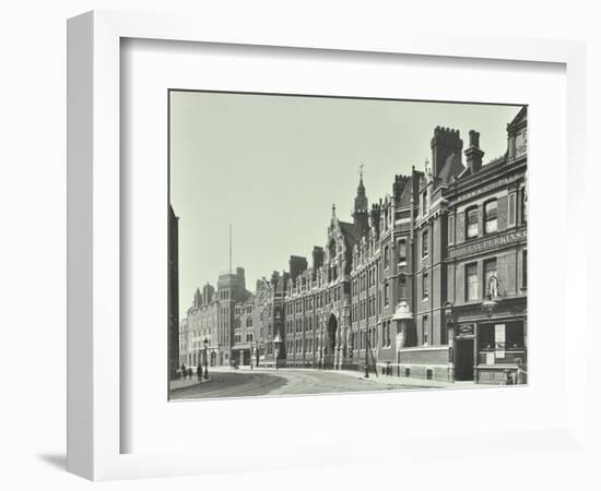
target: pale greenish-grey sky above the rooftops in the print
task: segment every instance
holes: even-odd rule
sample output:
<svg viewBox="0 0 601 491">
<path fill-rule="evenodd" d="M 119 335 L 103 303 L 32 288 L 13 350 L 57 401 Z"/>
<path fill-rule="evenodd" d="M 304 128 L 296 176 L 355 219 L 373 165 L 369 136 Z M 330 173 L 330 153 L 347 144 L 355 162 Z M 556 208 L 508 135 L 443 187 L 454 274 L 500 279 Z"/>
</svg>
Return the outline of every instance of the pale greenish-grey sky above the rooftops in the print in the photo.
<svg viewBox="0 0 601 491">
<path fill-rule="evenodd" d="M 256 280 L 310 265 L 337 206 L 351 212 L 364 165 L 369 206 L 392 192 L 396 173 L 431 160 L 436 125 L 480 132 L 484 163 L 505 153 L 518 106 L 342 99 L 201 92 L 170 93 L 170 202 L 179 217 L 179 313 L 207 282 L 233 267 Z"/>
</svg>

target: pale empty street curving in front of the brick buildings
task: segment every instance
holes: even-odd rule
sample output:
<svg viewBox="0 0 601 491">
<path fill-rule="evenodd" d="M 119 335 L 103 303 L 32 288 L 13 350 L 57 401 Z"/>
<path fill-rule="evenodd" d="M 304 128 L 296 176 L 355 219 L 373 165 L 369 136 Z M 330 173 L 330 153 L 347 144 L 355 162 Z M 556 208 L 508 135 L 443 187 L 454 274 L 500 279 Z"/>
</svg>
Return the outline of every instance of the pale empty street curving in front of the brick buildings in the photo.
<svg viewBox="0 0 601 491">
<path fill-rule="evenodd" d="M 201 384 L 172 391 L 172 399 L 247 397 L 266 395 L 331 394 L 345 392 L 432 388 L 444 386 L 432 381 L 415 381 L 396 376 L 370 374 L 363 379 L 360 372 L 299 369 L 239 369 L 216 368 Z"/>
</svg>

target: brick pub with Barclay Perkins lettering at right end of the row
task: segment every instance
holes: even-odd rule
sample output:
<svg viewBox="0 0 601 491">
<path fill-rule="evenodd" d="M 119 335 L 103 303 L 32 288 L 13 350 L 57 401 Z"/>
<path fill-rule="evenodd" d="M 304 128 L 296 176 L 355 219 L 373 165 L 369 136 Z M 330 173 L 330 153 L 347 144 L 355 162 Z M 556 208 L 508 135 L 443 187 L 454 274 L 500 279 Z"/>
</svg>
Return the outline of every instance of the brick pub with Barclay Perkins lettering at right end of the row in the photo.
<svg viewBox="0 0 601 491">
<path fill-rule="evenodd" d="M 446 192 L 455 380 L 498 383 L 527 366 L 526 108 L 507 133 L 507 153 L 482 166 L 471 132 L 466 172 Z"/>
</svg>

